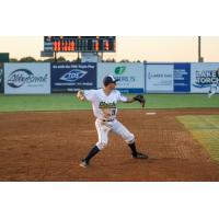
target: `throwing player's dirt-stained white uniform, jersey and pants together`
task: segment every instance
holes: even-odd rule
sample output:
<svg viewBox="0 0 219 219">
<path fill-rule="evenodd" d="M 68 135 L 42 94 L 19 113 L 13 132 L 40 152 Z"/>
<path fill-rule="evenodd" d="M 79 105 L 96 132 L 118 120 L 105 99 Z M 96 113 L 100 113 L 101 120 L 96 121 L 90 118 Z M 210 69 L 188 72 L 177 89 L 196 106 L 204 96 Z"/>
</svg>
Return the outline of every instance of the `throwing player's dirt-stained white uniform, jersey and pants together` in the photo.
<svg viewBox="0 0 219 219">
<path fill-rule="evenodd" d="M 108 132 L 113 131 L 120 136 L 127 143 L 135 141 L 135 136 L 122 123 L 116 119 L 117 102 L 127 102 L 127 97 L 119 91 L 113 90 L 106 95 L 103 89 L 87 90 L 84 96 L 92 103 L 93 113 L 96 117 L 95 127 L 99 135 L 96 146 L 102 150 L 108 142 Z"/>
</svg>

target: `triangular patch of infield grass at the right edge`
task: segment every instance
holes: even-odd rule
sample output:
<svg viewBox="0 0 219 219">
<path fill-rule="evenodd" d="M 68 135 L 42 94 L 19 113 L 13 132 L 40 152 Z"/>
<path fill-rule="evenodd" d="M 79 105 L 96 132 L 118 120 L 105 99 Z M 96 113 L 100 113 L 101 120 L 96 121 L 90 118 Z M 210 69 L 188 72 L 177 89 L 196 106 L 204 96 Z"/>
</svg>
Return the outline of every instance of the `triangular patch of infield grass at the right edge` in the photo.
<svg viewBox="0 0 219 219">
<path fill-rule="evenodd" d="M 219 115 L 177 116 L 177 119 L 219 163 Z"/>
</svg>

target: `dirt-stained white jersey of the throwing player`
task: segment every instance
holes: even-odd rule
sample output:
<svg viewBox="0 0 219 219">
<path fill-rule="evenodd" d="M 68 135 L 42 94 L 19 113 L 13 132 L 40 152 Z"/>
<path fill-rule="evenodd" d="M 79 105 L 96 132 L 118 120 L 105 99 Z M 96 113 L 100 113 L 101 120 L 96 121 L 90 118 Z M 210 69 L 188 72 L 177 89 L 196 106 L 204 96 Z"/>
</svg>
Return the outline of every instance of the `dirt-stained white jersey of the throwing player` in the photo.
<svg viewBox="0 0 219 219">
<path fill-rule="evenodd" d="M 113 90 L 106 95 L 103 89 L 85 90 L 84 96 L 92 103 L 94 116 L 99 119 L 112 120 L 117 115 L 117 102 L 127 102 L 127 97 L 119 91 Z"/>
</svg>

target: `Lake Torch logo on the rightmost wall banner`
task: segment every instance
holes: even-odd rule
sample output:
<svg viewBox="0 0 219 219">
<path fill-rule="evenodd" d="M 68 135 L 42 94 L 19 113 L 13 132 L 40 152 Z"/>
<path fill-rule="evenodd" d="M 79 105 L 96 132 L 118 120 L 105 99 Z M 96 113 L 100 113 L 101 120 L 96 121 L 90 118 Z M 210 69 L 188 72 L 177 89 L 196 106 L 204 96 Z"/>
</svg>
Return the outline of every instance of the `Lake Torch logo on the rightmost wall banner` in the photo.
<svg viewBox="0 0 219 219">
<path fill-rule="evenodd" d="M 195 71 L 195 82 L 193 83 L 195 88 L 204 89 L 217 83 L 219 83 L 217 70 Z"/>
</svg>

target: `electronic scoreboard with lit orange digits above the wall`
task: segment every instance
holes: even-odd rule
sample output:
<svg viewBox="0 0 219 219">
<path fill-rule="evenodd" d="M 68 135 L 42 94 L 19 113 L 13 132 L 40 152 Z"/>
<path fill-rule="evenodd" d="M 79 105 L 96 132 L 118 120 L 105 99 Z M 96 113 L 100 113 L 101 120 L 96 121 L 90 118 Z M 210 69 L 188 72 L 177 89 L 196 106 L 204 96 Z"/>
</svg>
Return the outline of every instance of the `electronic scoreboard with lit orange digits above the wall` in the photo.
<svg viewBox="0 0 219 219">
<path fill-rule="evenodd" d="M 45 51 L 114 53 L 115 36 L 44 36 Z"/>
</svg>

